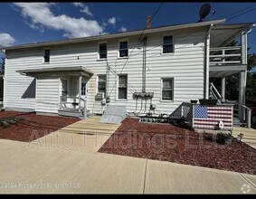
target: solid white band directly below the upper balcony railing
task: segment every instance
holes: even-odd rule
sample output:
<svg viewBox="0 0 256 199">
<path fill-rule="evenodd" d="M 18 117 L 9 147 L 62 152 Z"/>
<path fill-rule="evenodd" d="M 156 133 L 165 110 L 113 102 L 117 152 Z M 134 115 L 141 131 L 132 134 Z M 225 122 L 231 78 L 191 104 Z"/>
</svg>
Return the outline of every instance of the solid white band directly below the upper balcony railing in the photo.
<svg viewBox="0 0 256 199">
<path fill-rule="evenodd" d="M 246 71 L 246 64 L 237 64 L 237 65 L 225 65 L 225 66 L 210 66 L 210 77 L 227 77 L 229 75 Z"/>
</svg>

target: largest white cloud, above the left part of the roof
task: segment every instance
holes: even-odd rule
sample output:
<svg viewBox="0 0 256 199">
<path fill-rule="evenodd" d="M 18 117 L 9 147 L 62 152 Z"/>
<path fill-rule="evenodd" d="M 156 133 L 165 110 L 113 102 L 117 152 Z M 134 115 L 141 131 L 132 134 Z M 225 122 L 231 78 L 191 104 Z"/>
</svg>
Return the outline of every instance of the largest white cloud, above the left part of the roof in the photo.
<svg viewBox="0 0 256 199">
<path fill-rule="evenodd" d="M 80 3 L 78 3 L 80 4 Z M 47 27 L 61 30 L 68 38 L 98 35 L 103 33 L 103 27 L 95 20 L 73 18 L 66 14 L 54 15 L 50 3 L 14 3 L 21 8 L 24 18 L 30 19 L 30 27 Z"/>
</svg>

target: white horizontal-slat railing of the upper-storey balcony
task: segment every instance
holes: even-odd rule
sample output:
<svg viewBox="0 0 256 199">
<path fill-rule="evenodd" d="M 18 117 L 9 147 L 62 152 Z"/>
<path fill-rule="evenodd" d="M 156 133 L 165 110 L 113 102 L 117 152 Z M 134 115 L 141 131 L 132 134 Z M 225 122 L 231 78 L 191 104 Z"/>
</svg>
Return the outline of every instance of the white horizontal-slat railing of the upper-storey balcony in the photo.
<svg viewBox="0 0 256 199">
<path fill-rule="evenodd" d="M 242 63 L 242 47 L 210 48 L 210 65 Z"/>
</svg>

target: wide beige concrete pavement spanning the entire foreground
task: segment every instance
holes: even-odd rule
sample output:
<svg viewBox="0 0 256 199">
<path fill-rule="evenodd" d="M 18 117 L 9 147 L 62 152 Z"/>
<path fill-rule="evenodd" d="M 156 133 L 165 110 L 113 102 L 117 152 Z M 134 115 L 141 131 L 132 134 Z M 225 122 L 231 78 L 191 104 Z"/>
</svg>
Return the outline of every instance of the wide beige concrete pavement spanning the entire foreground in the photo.
<svg viewBox="0 0 256 199">
<path fill-rule="evenodd" d="M 102 154 L 79 145 L 0 139 L 0 151 L 1 194 L 256 194 L 256 175 Z"/>
</svg>

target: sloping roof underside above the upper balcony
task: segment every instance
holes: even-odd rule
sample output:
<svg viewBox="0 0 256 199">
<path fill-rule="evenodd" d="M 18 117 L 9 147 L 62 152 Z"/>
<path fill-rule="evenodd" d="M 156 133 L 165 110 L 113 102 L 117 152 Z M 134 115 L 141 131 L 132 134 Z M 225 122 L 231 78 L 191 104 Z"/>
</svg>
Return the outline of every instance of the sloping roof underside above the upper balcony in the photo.
<svg viewBox="0 0 256 199">
<path fill-rule="evenodd" d="M 243 31 L 249 31 L 253 23 L 246 24 L 215 24 L 211 31 L 211 48 L 225 46 L 241 34 Z"/>
</svg>

